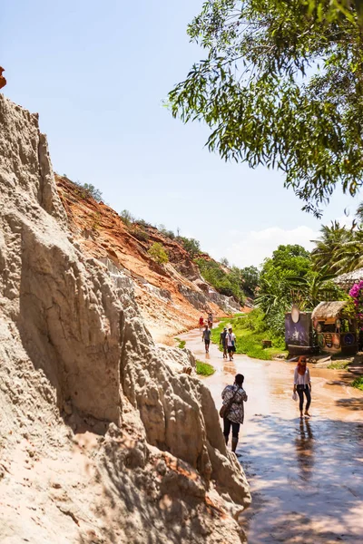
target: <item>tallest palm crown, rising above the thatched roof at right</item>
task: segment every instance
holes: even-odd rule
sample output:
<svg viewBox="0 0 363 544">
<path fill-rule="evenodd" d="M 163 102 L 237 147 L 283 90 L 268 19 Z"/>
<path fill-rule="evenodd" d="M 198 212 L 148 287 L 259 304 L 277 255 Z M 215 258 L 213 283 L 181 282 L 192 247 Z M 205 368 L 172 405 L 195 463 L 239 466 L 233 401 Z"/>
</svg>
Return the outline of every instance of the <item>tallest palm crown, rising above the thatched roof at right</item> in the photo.
<svg viewBox="0 0 363 544">
<path fill-rule="evenodd" d="M 343 271 L 341 268 L 346 263 L 341 261 L 340 256 L 343 255 L 343 248 L 347 248 L 347 245 L 354 241 L 353 231 L 342 227 L 338 221 L 332 221 L 331 227 L 324 225 L 320 232 L 319 239 L 311 240 L 316 245 L 311 252 L 314 269 L 319 271 L 325 268 L 329 273 L 341 273 Z"/>
</svg>

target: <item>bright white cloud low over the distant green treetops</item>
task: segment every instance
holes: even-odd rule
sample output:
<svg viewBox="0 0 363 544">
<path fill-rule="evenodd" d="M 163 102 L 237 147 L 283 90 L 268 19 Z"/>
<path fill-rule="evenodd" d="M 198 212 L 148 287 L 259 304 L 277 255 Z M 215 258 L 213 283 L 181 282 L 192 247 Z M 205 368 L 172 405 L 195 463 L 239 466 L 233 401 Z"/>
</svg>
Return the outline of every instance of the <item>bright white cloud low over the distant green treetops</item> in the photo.
<svg viewBox="0 0 363 544">
<path fill-rule="evenodd" d="M 210 250 L 212 257 L 227 257 L 231 264 L 238 267 L 259 266 L 263 259 L 270 257 L 278 246 L 299 244 L 306 249 L 312 249 L 310 240 L 317 239 L 319 232 L 313 228 L 301 226 L 285 230 L 280 227 L 250 230 L 249 232 L 230 231 L 225 238 L 223 248 Z"/>
</svg>

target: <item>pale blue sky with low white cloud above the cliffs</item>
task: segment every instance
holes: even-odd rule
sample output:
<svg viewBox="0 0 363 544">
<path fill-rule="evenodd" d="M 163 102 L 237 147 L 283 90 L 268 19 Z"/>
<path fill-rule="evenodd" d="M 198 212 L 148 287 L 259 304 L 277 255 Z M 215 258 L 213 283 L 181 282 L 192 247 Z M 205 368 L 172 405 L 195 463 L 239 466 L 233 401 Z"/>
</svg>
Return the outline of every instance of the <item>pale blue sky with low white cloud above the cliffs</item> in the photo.
<svg viewBox="0 0 363 544">
<path fill-rule="evenodd" d="M 260 265 L 280 244 L 312 248 L 320 221 L 302 212 L 279 172 L 226 163 L 209 131 L 163 106 L 205 52 L 187 24 L 199 0 L 3 0 L 3 92 L 39 112 L 54 170 L 93 184 L 113 209 L 196 238 L 212 257 Z M 353 214 L 335 194 L 323 223 Z"/>
</svg>

